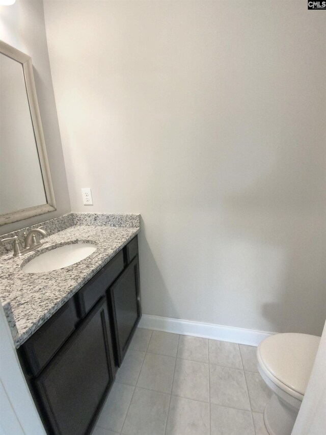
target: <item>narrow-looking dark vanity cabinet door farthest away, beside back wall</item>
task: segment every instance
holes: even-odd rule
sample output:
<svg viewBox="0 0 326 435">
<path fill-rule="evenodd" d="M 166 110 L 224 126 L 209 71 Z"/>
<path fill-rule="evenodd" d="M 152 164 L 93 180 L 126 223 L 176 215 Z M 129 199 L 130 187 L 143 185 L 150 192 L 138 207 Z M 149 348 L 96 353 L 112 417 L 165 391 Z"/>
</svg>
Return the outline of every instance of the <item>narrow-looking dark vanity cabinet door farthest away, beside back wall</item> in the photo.
<svg viewBox="0 0 326 435">
<path fill-rule="evenodd" d="M 110 288 L 110 302 L 120 366 L 141 317 L 138 255 Z"/>
</svg>

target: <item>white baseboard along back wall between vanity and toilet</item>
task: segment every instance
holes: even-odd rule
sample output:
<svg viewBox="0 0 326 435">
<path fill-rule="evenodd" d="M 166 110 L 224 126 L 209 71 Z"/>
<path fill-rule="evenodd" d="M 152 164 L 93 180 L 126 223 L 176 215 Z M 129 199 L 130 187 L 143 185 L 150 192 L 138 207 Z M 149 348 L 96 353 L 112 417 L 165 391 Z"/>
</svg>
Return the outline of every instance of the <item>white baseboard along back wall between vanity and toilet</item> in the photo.
<svg viewBox="0 0 326 435">
<path fill-rule="evenodd" d="M 173 332 L 173 334 L 211 338 L 213 340 L 247 344 L 250 346 L 258 346 L 263 339 L 275 334 L 274 332 L 215 325 L 213 323 L 192 322 L 189 320 L 172 319 L 170 317 L 151 316 L 149 314 L 143 314 L 138 326 L 157 331 Z"/>
</svg>

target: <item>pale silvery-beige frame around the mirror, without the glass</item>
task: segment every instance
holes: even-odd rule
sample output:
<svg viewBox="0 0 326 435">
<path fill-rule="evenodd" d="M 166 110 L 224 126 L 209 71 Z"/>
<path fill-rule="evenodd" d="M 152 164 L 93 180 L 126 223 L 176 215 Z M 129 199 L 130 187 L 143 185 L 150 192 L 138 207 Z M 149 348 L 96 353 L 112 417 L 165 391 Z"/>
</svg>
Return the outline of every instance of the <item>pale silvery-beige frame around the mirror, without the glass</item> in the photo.
<svg viewBox="0 0 326 435">
<path fill-rule="evenodd" d="M 31 119 L 35 135 L 35 142 L 39 155 L 45 196 L 47 201 L 46 204 L 41 204 L 40 206 L 15 210 L 10 213 L 0 215 L 0 225 L 5 225 L 7 223 L 16 222 L 18 220 L 27 219 L 30 217 L 42 215 L 44 213 L 52 212 L 57 209 L 55 195 L 53 192 L 50 167 L 47 159 L 40 109 L 36 95 L 32 59 L 30 56 L 25 55 L 24 53 L 20 52 L 16 48 L 8 45 L 6 42 L 3 41 L 0 41 L 0 53 L 8 56 L 11 59 L 14 59 L 22 65 L 26 93 L 29 101 Z"/>
</svg>

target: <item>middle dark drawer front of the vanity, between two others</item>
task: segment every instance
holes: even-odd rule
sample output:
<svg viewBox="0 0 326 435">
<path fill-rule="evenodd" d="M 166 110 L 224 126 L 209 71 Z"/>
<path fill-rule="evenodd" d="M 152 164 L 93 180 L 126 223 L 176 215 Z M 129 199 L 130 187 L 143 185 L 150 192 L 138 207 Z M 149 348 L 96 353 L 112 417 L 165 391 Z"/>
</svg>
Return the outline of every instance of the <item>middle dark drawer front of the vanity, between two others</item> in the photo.
<svg viewBox="0 0 326 435">
<path fill-rule="evenodd" d="M 121 250 L 79 290 L 76 298 L 80 317 L 85 317 L 92 306 L 105 294 L 106 289 L 123 271 L 123 266 L 123 251 Z"/>
</svg>

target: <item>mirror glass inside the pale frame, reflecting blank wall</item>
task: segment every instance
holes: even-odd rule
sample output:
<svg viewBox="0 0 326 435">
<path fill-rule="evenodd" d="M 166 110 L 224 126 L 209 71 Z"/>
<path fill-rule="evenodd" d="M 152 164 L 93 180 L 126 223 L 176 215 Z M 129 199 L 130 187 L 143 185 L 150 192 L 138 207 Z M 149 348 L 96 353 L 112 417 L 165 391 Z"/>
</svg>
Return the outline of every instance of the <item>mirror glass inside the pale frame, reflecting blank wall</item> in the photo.
<svg viewBox="0 0 326 435">
<path fill-rule="evenodd" d="M 0 214 L 46 203 L 21 63 L 0 53 Z"/>
</svg>

